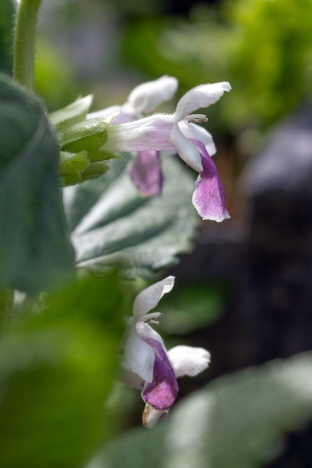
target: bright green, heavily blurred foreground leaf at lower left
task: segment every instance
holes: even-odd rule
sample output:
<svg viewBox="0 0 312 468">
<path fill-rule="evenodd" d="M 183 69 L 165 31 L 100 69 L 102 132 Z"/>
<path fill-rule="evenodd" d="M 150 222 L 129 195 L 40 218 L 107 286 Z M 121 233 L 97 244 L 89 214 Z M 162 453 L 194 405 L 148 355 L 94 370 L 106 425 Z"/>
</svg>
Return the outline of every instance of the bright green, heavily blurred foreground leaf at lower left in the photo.
<svg viewBox="0 0 312 468">
<path fill-rule="evenodd" d="M 111 435 L 105 400 L 127 301 L 116 272 L 45 300 L 0 340 L 0 465 L 78 468 Z"/>
</svg>

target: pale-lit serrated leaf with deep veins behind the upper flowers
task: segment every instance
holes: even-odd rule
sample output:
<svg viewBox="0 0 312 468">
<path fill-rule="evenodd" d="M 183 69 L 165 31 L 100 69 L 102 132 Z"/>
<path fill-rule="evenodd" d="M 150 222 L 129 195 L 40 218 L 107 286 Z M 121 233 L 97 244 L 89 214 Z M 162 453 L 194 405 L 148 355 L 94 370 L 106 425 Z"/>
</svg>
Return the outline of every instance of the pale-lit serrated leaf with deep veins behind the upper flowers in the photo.
<svg viewBox="0 0 312 468">
<path fill-rule="evenodd" d="M 116 160 L 98 180 L 65 189 L 78 266 L 101 272 L 118 265 L 125 276 L 151 278 L 190 250 L 198 219 L 193 176 L 173 156 L 162 161 L 161 197 L 141 197 L 127 164 Z"/>
</svg>

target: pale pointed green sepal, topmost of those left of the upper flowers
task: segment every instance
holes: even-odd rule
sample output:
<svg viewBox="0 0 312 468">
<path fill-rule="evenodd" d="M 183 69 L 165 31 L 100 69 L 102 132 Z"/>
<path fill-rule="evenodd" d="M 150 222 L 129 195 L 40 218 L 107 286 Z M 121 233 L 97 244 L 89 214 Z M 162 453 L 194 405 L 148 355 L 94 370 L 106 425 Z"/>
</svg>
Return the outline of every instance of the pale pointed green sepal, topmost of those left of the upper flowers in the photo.
<svg viewBox="0 0 312 468">
<path fill-rule="evenodd" d="M 64 132 L 73 125 L 85 120 L 92 100 L 92 94 L 84 98 L 78 98 L 63 109 L 52 112 L 49 118 L 59 132 Z"/>
</svg>

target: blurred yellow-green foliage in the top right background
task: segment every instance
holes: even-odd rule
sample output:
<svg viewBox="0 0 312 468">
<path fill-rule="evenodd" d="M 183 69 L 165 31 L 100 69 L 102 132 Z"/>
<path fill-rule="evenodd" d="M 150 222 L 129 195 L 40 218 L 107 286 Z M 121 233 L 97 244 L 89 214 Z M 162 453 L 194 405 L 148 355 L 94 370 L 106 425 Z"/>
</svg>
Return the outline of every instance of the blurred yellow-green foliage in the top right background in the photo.
<svg viewBox="0 0 312 468">
<path fill-rule="evenodd" d="M 311 31 L 310 0 L 228 0 L 220 9 L 197 5 L 188 19 L 130 22 L 123 54 L 151 76 L 176 76 L 181 93 L 230 81 L 233 91 L 208 115 L 235 131 L 266 127 L 311 95 Z"/>
</svg>

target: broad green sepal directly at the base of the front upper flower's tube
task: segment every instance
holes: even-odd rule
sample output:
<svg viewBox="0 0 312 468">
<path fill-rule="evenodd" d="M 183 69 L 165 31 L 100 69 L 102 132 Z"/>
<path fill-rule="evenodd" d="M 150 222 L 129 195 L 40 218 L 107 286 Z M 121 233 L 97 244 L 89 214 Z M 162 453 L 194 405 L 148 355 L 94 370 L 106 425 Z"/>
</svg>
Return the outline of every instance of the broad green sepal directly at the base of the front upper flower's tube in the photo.
<svg viewBox="0 0 312 468">
<path fill-rule="evenodd" d="M 107 126 L 102 119 L 80 122 L 60 134 L 61 149 L 69 153 L 96 151 L 107 141 Z"/>
</svg>

